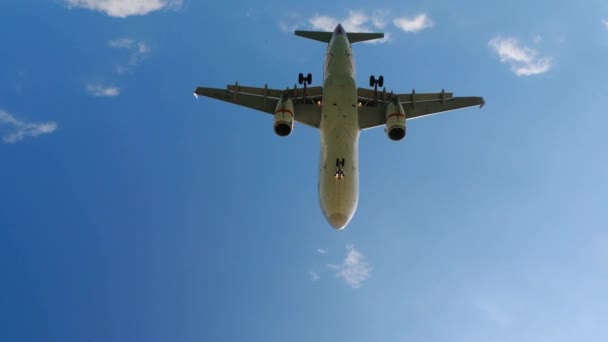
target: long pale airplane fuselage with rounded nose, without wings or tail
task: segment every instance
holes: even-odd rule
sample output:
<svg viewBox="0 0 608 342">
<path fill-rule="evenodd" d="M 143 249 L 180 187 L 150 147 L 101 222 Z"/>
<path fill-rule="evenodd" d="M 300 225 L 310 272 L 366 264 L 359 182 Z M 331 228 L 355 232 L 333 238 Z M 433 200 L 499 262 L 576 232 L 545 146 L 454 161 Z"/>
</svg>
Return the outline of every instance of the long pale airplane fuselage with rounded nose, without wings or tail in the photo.
<svg viewBox="0 0 608 342">
<path fill-rule="evenodd" d="M 329 224 L 342 229 L 357 209 L 360 129 L 354 56 L 341 29 L 334 33 L 325 56 L 319 132 L 319 202 Z"/>
</svg>

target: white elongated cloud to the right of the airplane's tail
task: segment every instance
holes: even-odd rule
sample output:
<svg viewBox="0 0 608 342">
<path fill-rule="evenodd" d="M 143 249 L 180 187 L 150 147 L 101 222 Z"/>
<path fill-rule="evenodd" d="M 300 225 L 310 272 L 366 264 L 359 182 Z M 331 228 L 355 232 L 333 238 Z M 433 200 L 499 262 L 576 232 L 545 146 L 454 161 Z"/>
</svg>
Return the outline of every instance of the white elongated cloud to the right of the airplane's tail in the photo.
<svg viewBox="0 0 608 342">
<path fill-rule="evenodd" d="M 536 50 L 521 46 L 515 38 L 496 37 L 488 43 L 502 63 L 511 66 L 517 76 L 531 76 L 545 73 L 553 66 L 550 57 L 538 57 Z"/>
</svg>

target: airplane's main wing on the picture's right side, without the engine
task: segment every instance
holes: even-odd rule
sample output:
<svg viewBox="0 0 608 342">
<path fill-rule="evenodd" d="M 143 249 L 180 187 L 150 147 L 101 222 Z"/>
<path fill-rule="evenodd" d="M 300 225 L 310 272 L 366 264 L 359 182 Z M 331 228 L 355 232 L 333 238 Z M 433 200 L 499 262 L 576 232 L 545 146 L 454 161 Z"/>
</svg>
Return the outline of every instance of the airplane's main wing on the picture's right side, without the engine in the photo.
<svg viewBox="0 0 608 342">
<path fill-rule="evenodd" d="M 371 89 L 358 89 L 359 127 L 368 129 L 386 123 L 386 104 L 393 98 L 385 90 L 377 93 Z M 479 106 L 483 107 L 483 97 L 453 97 L 452 93 L 416 93 L 397 94 L 405 111 L 407 120 L 428 116 L 454 109 Z"/>
</svg>

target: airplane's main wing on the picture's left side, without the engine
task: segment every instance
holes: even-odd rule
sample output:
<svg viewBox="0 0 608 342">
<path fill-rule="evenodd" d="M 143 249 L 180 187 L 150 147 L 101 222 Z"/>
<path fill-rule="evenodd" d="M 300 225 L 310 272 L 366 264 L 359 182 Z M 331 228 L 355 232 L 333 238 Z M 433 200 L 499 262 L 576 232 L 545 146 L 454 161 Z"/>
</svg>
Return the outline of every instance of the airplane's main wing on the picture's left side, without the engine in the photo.
<svg viewBox="0 0 608 342">
<path fill-rule="evenodd" d="M 290 92 L 292 96 L 294 119 L 318 128 L 321 122 L 321 106 L 318 105 L 323 93 L 321 87 L 309 87 L 306 88 L 306 91 L 304 88 L 298 89 L 295 86 L 293 89 L 279 90 L 270 89 L 267 86 L 264 88 L 247 87 L 237 83 L 228 85 L 226 89 L 197 87 L 194 90 L 194 96 L 206 96 L 274 115 L 279 98 L 285 91 Z"/>
</svg>

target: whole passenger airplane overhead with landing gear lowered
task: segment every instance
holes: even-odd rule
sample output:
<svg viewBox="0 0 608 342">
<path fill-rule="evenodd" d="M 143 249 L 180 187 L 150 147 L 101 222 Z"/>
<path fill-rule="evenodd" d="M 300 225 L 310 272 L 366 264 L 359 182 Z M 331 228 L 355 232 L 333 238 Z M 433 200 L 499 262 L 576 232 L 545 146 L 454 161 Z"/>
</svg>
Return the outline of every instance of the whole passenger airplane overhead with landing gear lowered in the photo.
<svg viewBox="0 0 608 342">
<path fill-rule="evenodd" d="M 362 130 L 385 126 L 388 138 L 398 141 L 405 137 L 407 120 L 485 104 L 483 97 L 453 97 L 444 90 L 387 93 L 383 76 L 370 77 L 373 89 L 357 88 L 351 44 L 383 38 L 383 33 L 346 33 L 338 24 L 333 32 L 296 30 L 295 35 L 328 44 L 322 87 L 308 87 L 312 75 L 300 73 L 301 88 L 256 88 L 237 82 L 226 89 L 197 87 L 194 95 L 271 114 L 274 132 L 281 137 L 291 134 L 294 121 L 319 129 L 319 203 L 326 220 L 336 230 L 346 227 L 357 208 L 358 142 Z"/>
</svg>

